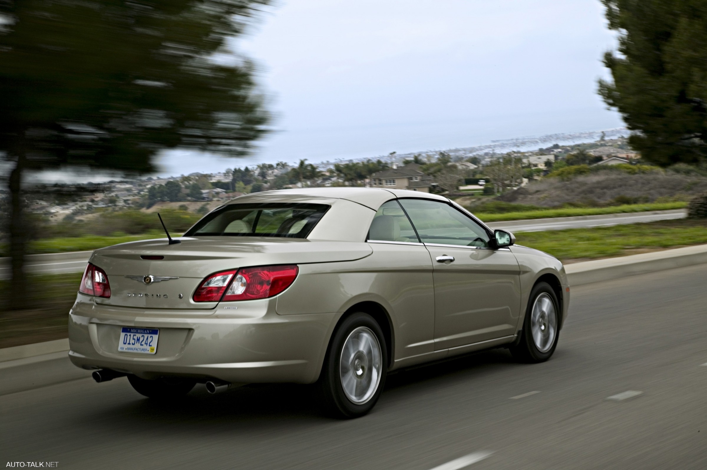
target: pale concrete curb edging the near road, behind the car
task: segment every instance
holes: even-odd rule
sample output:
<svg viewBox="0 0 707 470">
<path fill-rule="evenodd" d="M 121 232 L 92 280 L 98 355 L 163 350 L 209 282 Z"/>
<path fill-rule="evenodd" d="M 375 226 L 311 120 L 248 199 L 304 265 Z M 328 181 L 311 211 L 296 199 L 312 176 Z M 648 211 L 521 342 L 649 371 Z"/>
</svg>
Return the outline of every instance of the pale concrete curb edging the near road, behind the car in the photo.
<svg viewBox="0 0 707 470">
<path fill-rule="evenodd" d="M 707 264 L 707 245 L 567 264 L 565 270 L 575 287 L 696 264 Z M 90 377 L 71 364 L 68 351 L 68 339 L 0 349 L 0 395 Z"/>
</svg>

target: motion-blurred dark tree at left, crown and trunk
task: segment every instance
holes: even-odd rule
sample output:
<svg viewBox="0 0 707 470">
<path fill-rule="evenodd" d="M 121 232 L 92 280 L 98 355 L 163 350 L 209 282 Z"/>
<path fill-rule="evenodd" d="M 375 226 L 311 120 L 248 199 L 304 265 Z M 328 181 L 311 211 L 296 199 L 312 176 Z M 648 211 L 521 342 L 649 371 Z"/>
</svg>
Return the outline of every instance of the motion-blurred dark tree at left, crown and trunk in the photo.
<svg viewBox="0 0 707 470">
<path fill-rule="evenodd" d="M 230 45 L 268 0 L 0 0 L 0 152 L 19 307 L 23 174 L 155 170 L 165 148 L 246 155 L 269 120 Z"/>
</svg>

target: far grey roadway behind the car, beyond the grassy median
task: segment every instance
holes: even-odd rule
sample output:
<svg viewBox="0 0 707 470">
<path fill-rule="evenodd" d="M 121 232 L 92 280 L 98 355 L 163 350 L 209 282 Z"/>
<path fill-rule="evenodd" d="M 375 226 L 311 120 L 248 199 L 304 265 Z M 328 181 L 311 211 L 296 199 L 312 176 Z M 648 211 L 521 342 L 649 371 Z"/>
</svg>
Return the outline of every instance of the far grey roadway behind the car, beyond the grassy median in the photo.
<svg viewBox="0 0 707 470">
<path fill-rule="evenodd" d="M 599 227 L 604 225 L 619 225 L 624 223 L 639 223 L 665 221 L 684 218 L 686 212 L 678 211 L 653 211 L 617 214 L 613 216 L 585 216 L 542 218 L 534 221 L 492 222 L 487 225 L 491 228 L 505 228 L 511 232 L 538 232 L 542 230 L 563 230 L 565 228 Z M 35 254 L 27 258 L 25 271 L 30 274 L 64 274 L 80 273 L 86 269 L 86 262 L 90 252 L 64 253 L 60 259 L 56 254 Z M 8 258 L 0 258 L 0 279 L 11 278 Z"/>
</svg>

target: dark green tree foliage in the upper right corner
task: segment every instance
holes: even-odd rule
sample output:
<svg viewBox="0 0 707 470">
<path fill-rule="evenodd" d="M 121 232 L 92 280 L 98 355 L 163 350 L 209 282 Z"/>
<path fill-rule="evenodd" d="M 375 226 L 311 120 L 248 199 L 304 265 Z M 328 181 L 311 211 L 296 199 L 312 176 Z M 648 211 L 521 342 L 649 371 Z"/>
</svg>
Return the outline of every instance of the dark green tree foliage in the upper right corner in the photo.
<svg viewBox="0 0 707 470">
<path fill-rule="evenodd" d="M 617 52 L 599 81 L 633 134 L 629 143 L 650 163 L 697 164 L 707 155 L 707 2 L 602 0 Z"/>
</svg>

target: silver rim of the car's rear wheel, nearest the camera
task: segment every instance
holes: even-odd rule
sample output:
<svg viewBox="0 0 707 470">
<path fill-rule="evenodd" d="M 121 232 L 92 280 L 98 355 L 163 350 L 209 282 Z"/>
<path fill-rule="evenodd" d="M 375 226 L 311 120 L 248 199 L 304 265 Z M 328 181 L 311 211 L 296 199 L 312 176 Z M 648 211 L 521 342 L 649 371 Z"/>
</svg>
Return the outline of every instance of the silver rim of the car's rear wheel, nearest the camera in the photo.
<svg viewBox="0 0 707 470">
<path fill-rule="evenodd" d="M 378 338 L 366 327 L 351 331 L 341 348 L 341 388 L 352 403 L 370 400 L 380 384 L 381 349 Z"/>
</svg>

